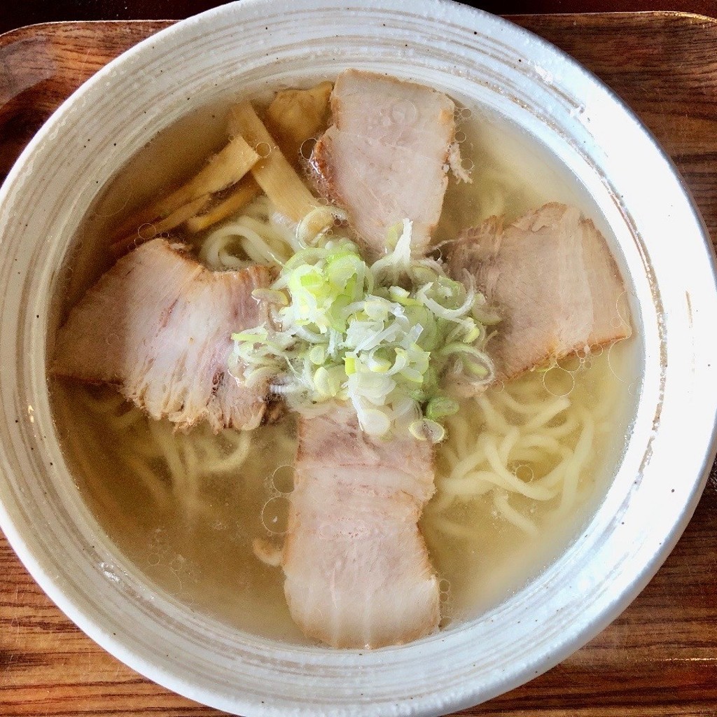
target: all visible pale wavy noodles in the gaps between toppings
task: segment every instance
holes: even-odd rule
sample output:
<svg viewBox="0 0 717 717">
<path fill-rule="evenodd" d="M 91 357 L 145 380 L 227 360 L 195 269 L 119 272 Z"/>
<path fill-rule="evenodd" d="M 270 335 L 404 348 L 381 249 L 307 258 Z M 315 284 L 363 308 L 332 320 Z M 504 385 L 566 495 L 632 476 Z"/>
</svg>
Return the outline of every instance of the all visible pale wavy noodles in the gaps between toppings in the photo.
<svg viewBox="0 0 717 717">
<path fill-rule="evenodd" d="M 486 179 L 498 188 L 497 195 L 505 196 L 499 180 Z M 503 211 L 491 206 L 485 212 L 494 210 Z M 285 262 L 298 247 L 295 229 L 260 196 L 239 217 L 200 238 L 200 257 L 218 270 Z M 422 518 L 434 554 L 455 541 L 462 543 L 462 551 L 480 552 L 490 521 L 509 526 L 518 536 L 536 536 L 543 529 L 547 534 L 551 523 L 584 502 L 621 385 L 611 354 L 578 356 L 462 403 L 447 420 L 447 439 L 437 448 L 436 493 Z M 90 420 L 103 425 L 124 470 L 159 508 L 211 521 L 212 482 L 247 470 L 262 473 L 252 432 L 214 435 L 202 425 L 187 434 L 174 432 L 168 422 L 146 419 L 118 394 L 80 390 Z M 293 455 L 290 432 L 276 432 L 272 441 L 272 450 Z M 266 480 L 270 483 L 271 475 Z"/>
</svg>

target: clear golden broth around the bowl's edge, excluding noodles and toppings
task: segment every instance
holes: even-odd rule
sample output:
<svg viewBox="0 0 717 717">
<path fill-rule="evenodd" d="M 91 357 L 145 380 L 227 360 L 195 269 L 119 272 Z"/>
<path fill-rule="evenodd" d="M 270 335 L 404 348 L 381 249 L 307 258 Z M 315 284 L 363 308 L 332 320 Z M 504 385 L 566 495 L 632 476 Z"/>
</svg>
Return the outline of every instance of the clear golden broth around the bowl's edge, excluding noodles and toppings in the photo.
<svg viewBox="0 0 717 717">
<path fill-rule="evenodd" d="M 65 315 L 110 266 L 106 247 L 113 227 L 149 198 L 191 176 L 227 140 L 226 107 L 204 108 L 168 128 L 133 157 L 103 191 L 67 260 L 65 290 L 57 297 L 58 316 Z M 451 179 L 437 242 L 455 237 L 458 230 L 494 212 L 511 219 L 546 201 L 576 204 L 606 231 L 574 176 L 532 138 L 478 108 L 472 113 L 460 110 L 459 117 L 459 130 L 466 137 L 462 155 L 467 166 L 473 166 L 475 181 L 460 184 Z M 583 392 L 587 401 L 596 391 L 617 391 L 619 402 L 611 417 L 614 430 L 596 445 L 589 469 L 581 478 L 581 502 L 569 516 L 551 518 L 554 504 L 523 506 L 541 526 L 540 540 L 497 516 L 490 500 L 475 500 L 469 507 L 457 508 L 470 511 L 475 523 L 475 540 L 470 543 L 439 537 L 427 524 L 430 511 L 425 513 L 422 529 L 444 579 L 446 625 L 458 624 L 498 604 L 579 535 L 607 490 L 625 445 L 637 394 L 635 343 L 633 339 L 614 346 L 609 356 L 606 351 L 591 369 L 575 374 L 574 391 Z M 54 414 L 67 462 L 98 523 L 118 549 L 160 589 L 191 609 L 257 635 L 305 642 L 286 607 L 281 569 L 263 564 L 252 551 L 255 538 L 274 543 L 281 539 L 290 490 L 287 467 L 293 463 L 295 445 L 293 419 L 257 429 L 242 469 L 199 480 L 192 488 L 195 502 L 188 505 L 186 493 L 172 493 L 161 468 L 157 485 L 163 484 L 163 488 L 151 488 L 138 478 L 132 441 L 139 439 L 129 436 L 118 427 L 118 421 L 98 408 L 113 396 L 111 389 L 51 380 Z M 136 431 L 142 441 L 149 440 L 148 420 L 136 423 Z M 197 442 L 222 441 L 221 435 L 214 439 L 204 429 L 194 429 L 193 435 Z M 440 450 L 438 483 L 443 463 Z M 168 493 L 170 499 L 158 500 L 157 490 L 161 495 Z"/>
</svg>

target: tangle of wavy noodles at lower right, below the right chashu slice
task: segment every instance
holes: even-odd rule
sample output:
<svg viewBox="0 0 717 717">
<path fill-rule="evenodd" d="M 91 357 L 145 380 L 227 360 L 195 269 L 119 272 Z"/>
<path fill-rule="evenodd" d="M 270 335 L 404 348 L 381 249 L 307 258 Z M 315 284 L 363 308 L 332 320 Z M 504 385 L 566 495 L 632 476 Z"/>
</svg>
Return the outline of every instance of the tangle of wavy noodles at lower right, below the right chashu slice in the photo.
<svg viewBox="0 0 717 717">
<path fill-rule="evenodd" d="M 592 484 L 619 391 L 607 357 L 589 360 L 589 370 L 585 357 L 563 366 L 558 385 L 534 371 L 463 402 L 437 451 L 425 531 L 475 541 L 472 524 L 492 516 L 536 535 L 574 510 Z"/>
</svg>

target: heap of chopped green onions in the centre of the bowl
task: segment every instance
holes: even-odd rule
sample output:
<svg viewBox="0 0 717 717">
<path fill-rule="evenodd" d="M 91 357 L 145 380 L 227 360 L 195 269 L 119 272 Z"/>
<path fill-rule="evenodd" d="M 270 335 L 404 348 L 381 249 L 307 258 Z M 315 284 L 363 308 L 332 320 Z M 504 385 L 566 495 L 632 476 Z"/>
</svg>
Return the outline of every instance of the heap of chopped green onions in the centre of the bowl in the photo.
<svg viewBox="0 0 717 717">
<path fill-rule="evenodd" d="M 300 222 L 306 248 L 270 289 L 255 291 L 269 304 L 269 327 L 232 334 L 229 370 L 252 385 L 268 380 L 298 412 L 351 402 L 371 436 L 443 440 L 441 422 L 458 404 L 441 379 L 492 380 L 485 326 L 497 317 L 473 285 L 448 277 L 440 262 L 412 257 L 408 219 L 389 230 L 394 248 L 373 265 L 333 233 L 337 219 L 345 219 L 341 210 L 319 207 Z"/>
</svg>

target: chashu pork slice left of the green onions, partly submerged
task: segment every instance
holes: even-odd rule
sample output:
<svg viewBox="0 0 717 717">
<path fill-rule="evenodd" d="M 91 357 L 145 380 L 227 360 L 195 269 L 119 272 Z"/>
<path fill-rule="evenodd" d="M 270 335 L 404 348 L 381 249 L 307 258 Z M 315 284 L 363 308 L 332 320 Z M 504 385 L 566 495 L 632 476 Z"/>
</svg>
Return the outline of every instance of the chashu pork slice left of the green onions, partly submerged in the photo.
<svg viewBox="0 0 717 717">
<path fill-rule="evenodd" d="M 72 308 L 57 334 L 52 371 L 115 384 L 130 401 L 179 428 L 254 428 L 266 386 L 227 371 L 232 331 L 267 320 L 252 290 L 272 273 L 254 266 L 212 272 L 182 244 L 154 239 L 118 262 Z"/>
</svg>

